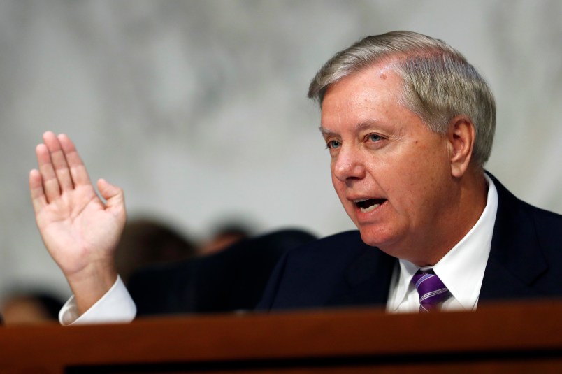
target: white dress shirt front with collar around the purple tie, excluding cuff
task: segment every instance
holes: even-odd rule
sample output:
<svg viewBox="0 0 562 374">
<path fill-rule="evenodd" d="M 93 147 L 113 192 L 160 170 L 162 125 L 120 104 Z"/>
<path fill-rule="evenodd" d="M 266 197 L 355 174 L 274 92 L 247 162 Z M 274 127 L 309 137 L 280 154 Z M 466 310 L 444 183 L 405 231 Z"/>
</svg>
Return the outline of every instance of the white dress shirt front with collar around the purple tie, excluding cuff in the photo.
<svg viewBox="0 0 562 374">
<path fill-rule="evenodd" d="M 490 254 L 491 238 L 498 210 L 498 192 L 492 180 L 488 182 L 486 207 L 470 231 L 434 266 L 435 274 L 451 292 L 442 310 L 475 310 Z M 412 278 L 419 267 L 400 259 L 392 276 L 387 312 L 418 312 L 419 295 Z"/>
</svg>

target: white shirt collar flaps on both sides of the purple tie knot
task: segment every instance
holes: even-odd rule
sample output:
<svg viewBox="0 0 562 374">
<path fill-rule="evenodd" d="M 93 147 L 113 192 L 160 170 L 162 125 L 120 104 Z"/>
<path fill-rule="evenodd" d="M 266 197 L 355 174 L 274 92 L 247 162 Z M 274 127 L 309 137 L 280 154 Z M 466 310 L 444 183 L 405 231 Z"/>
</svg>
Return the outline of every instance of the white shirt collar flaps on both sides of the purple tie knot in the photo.
<svg viewBox="0 0 562 374">
<path fill-rule="evenodd" d="M 496 186 L 493 185 L 487 174 L 484 174 L 484 178 L 488 183 L 488 196 L 482 215 L 466 236 L 432 267 L 452 296 L 466 310 L 473 310 L 478 301 L 484 270 L 490 254 L 493 225 L 496 222 L 498 210 Z M 397 300 L 403 300 L 419 267 L 405 259 L 399 259 L 398 264 L 396 298 Z"/>
</svg>

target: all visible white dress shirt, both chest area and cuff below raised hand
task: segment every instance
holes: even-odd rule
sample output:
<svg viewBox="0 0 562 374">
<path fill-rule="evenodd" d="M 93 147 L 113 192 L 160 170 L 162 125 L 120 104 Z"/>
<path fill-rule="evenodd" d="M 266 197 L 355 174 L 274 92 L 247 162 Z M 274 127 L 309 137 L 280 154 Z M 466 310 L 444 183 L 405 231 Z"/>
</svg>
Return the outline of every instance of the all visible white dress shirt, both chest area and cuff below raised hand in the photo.
<svg viewBox="0 0 562 374">
<path fill-rule="evenodd" d="M 452 295 L 442 304 L 442 310 L 474 310 L 478 303 L 498 210 L 496 186 L 488 175 L 485 177 L 489 187 L 482 215 L 466 236 L 433 266 L 433 271 Z M 411 282 L 417 270 L 418 267 L 409 261 L 398 261 L 391 280 L 387 312 L 419 310 L 419 296 Z M 65 325 L 131 322 L 135 316 L 136 305 L 121 278 L 117 277 L 113 287 L 80 316 L 72 296 L 59 312 L 59 322 Z"/>
</svg>

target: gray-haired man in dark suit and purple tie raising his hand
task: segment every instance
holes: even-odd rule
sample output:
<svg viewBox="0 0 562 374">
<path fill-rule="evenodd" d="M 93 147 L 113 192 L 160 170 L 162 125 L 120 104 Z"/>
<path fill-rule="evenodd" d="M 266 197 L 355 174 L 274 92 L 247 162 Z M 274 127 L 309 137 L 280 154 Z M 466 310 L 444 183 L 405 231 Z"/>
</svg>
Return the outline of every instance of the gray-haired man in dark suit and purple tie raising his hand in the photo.
<svg viewBox="0 0 562 374">
<path fill-rule="evenodd" d="M 259 308 L 473 310 L 484 300 L 562 294 L 562 217 L 484 173 L 495 104 L 459 52 L 408 31 L 370 36 L 330 59 L 309 97 L 321 104 L 333 185 L 359 233 L 289 252 Z M 43 139 L 31 197 L 75 295 L 63 322 L 132 319 L 113 267 L 123 193 L 100 180 L 103 204 L 69 138 Z"/>
</svg>

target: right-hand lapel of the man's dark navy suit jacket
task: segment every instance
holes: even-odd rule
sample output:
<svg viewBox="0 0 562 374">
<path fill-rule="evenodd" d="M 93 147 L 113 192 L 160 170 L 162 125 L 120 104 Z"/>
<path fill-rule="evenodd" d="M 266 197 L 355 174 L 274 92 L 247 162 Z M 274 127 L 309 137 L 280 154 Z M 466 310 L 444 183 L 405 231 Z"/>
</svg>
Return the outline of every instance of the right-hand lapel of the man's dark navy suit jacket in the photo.
<svg viewBox="0 0 562 374">
<path fill-rule="evenodd" d="M 531 285 L 547 270 L 547 261 L 540 252 L 535 222 L 526 203 L 490 176 L 498 190 L 498 212 L 480 301 L 539 296 Z"/>
</svg>

